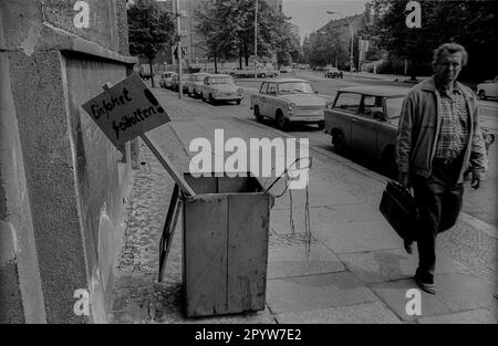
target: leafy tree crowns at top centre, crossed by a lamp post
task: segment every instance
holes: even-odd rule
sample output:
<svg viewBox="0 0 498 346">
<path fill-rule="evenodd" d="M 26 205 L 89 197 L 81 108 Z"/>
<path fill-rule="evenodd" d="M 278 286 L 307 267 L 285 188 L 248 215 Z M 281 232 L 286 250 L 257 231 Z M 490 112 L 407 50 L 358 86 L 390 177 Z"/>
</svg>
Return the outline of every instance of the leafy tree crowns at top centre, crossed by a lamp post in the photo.
<svg viewBox="0 0 498 346">
<path fill-rule="evenodd" d="M 207 55 L 211 59 L 239 57 L 246 65 L 255 54 L 253 0 L 205 0 L 197 12 L 197 31 L 206 39 Z M 264 1 L 258 1 L 258 57 L 270 57 L 273 51 L 288 53 L 291 45 L 286 18 Z"/>
</svg>

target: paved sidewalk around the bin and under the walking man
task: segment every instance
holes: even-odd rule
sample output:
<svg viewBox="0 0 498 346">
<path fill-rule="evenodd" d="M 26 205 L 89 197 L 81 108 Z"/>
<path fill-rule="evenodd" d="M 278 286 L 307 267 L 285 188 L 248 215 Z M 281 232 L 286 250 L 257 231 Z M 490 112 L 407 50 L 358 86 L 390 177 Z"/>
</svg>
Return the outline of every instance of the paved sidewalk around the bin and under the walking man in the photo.
<svg viewBox="0 0 498 346">
<path fill-rule="evenodd" d="M 224 128 L 226 139 L 278 136 L 262 125 L 232 117 L 222 107 L 155 92 L 172 124 L 151 135 L 180 171 L 188 170 L 190 140 L 205 137 L 212 143 L 216 128 Z M 406 292 L 416 287 L 411 279 L 416 255 L 404 252 L 401 240 L 378 212 L 383 184 L 340 159 L 317 157 L 309 187 L 311 238 L 304 232 L 304 191 L 292 191 L 292 205 L 286 192 L 271 211 L 267 308 L 187 319 L 181 312 L 180 222 L 166 280 L 157 283 L 158 243 L 173 181 L 144 145 L 141 160 L 144 165 L 135 171 L 126 239 L 116 272 L 111 316 L 115 323 L 497 322 L 495 283 L 473 275 L 445 254 L 438 256 L 437 295 L 422 292 L 422 315 L 407 315 Z"/>
</svg>

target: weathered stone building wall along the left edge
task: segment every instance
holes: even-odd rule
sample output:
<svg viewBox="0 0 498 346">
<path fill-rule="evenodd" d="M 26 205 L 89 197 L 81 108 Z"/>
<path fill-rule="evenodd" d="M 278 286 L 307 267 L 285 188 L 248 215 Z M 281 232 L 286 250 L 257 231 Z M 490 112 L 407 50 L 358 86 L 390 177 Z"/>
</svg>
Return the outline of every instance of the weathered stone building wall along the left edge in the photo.
<svg viewBox="0 0 498 346">
<path fill-rule="evenodd" d="M 125 0 L 85 2 L 89 28 L 73 23 L 76 0 L 0 1 L 0 303 L 12 297 L 8 322 L 106 321 L 129 145 L 122 160 L 81 105 L 126 77 L 135 60 L 125 56 Z M 91 316 L 73 313 L 79 289 L 90 292 Z"/>
</svg>

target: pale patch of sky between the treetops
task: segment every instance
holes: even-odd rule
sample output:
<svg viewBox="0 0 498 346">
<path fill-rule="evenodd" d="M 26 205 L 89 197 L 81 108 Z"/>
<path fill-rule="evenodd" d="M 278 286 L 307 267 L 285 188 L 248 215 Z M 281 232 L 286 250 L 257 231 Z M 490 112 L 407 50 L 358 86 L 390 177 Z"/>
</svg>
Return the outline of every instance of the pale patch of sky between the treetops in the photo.
<svg viewBox="0 0 498 346">
<path fill-rule="evenodd" d="M 360 14 L 365 10 L 367 0 L 282 0 L 283 13 L 292 17 L 291 23 L 299 27 L 301 40 L 313 30 L 318 30 L 340 14 L 328 14 L 326 11 L 341 12 L 344 15 Z"/>
</svg>

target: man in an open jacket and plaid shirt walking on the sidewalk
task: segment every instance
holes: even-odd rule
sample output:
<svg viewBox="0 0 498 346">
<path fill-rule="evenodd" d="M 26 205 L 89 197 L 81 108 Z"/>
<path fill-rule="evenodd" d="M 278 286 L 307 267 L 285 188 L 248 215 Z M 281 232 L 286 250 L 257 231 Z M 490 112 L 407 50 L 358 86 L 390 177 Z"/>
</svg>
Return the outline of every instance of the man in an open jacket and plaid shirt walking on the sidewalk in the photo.
<svg viewBox="0 0 498 346">
<path fill-rule="evenodd" d="M 411 90 L 403 102 L 397 136 L 400 184 L 413 187 L 419 209 L 415 240 L 415 282 L 435 294 L 436 237 L 457 221 L 464 172 L 473 169 L 478 189 L 485 172 L 486 148 L 478 125 L 477 98 L 456 80 L 467 63 L 464 46 L 445 43 L 434 51 L 434 75 Z M 405 241 L 412 253 L 412 242 Z"/>
</svg>

